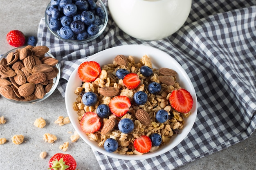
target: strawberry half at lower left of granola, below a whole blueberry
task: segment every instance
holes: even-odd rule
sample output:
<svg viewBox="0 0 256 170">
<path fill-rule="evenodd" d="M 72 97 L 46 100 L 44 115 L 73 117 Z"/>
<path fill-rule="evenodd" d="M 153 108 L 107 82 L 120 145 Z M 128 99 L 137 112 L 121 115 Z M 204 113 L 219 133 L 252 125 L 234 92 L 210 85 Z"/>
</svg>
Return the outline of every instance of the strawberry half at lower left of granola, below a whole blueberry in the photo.
<svg viewBox="0 0 256 170">
<path fill-rule="evenodd" d="M 86 112 L 80 121 L 80 126 L 85 133 L 93 133 L 101 128 L 98 115 L 94 112 Z"/>
</svg>

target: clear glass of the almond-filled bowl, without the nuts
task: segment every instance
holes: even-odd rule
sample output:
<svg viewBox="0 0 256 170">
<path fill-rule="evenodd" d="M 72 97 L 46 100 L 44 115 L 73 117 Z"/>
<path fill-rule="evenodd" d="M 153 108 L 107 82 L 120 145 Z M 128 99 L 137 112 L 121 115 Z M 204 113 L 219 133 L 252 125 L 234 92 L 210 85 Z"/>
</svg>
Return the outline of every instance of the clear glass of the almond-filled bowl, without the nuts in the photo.
<svg viewBox="0 0 256 170">
<path fill-rule="evenodd" d="M 18 48 L 15 48 L 15 49 L 12 49 L 12 50 L 8 51 L 8 52 L 5 53 L 4 55 L 2 55 L 2 57 L 0 57 L 0 61 L 2 60 L 2 58 L 6 58 L 9 53 L 15 52 L 17 49 L 22 49 L 22 48 L 24 48 L 24 47 L 25 47 L 25 46 L 21 46 L 21 47 L 18 47 Z M 45 56 L 46 56 L 46 57 L 49 56 L 49 57 L 55 58 L 55 57 L 54 57 L 51 53 L 49 53 L 49 52 L 45 53 Z M 41 101 L 47 99 L 47 97 L 49 97 L 49 96 L 55 91 L 55 89 L 56 89 L 57 86 L 58 86 L 58 82 L 59 82 L 59 80 L 60 80 L 60 75 L 61 75 L 60 66 L 59 66 L 59 64 L 57 63 L 54 67 L 58 68 L 58 74 L 57 74 L 57 76 L 53 79 L 53 83 L 54 83 L 54 84 L 53 84 L 51 90 L 50 90 L 48 93 L 46 93 L 42 99 L 35 99 L 35 100 L 30 100 L 30 101 L 18 101 L 18 100 L 14 100 L 14 99 L 8 99 L 8 98 L 4 97 L 2 94 L 0 94 L 0 95 L 2 95 L 2 97 L 4 97 L 5 99 L 7 99 L 7 100 L 9 100 L 9 101 L 11 101 L 11 102 L 13 102 L 13 103 L 17 103 L 17 104 L 34 104 L 34 103 L 38 103 L 38 102 L 41 102 Z"/>
</svg>

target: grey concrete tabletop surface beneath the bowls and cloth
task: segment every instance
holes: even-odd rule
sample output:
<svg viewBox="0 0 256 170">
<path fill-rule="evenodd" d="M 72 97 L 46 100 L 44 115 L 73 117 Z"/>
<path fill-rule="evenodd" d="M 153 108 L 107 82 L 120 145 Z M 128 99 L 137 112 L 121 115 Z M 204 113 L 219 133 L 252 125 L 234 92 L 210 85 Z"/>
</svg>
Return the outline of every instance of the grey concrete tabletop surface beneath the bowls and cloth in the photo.
<svg viewBox="0 0 256 170">
<path fill-rule="evenodd" d="M 6 34 L 14 29 L 25 35 L 37 34 L 38 24 L 50 0 L 0 0 L 0 54 L 11 50 L 6 41 Z M 55 91 L 48 99 L 38 104 L 13 104 L 0 97 L 0 116 L 6 119 L 0 124 L 0 138 L 7 142 L 0 145 L 0 170 L 43 170 L 48 168 L 49 158 L 61 152 L 59 146 L 70 142 L 66 153 L 74 156 L 79 170 L 100 170 L 94 154 L 87 144 L 79 139 L 70 141 L 70 132 L 74 132 L 72 124 L 58 126 L 54 120 L 58 116 L 67 116 L 65 99 Z M 47 125 L 38 129 L 34 120 L 43 117 Z M 58 138 L 54 144 L 43 141 L 44 133 L 52 133 Z M 13 135 L 25 136 L 24 143 L 15 145 L 11 141 Z M 197 159 L 176 170 L 255 170 L 256 169 L 256 133 L 234 146 Z M 47 157 L 41 159 L 40 152 L 46 151 Z"/>
</svg>

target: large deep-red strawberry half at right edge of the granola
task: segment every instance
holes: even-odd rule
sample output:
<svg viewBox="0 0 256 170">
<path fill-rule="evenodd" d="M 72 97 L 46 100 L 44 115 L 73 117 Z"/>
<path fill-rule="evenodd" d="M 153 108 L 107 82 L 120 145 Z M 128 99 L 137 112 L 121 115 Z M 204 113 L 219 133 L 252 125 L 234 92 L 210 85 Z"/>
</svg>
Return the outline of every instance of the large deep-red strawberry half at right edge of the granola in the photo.
<svg viewBox="0 0 256 170">
<path fill-rule="evenodd" d="M 184 88 L 174 90 L 169 97 L 169 101 L 171 106 L 180 113 L 188 113 L 193 106 L 193 98 Z"/>
</svg>

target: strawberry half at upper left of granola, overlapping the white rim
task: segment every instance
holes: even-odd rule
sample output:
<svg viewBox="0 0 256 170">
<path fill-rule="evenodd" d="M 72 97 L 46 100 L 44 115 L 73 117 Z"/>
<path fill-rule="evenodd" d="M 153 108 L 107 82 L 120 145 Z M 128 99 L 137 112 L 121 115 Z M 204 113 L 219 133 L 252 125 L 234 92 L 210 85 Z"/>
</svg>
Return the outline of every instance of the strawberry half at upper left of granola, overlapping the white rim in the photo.
<svg viewBox="0 0 256 170">
<path fill-rule="evenodd" d="M 78 67 L 78 75 L 83 82 L 94 81 L 99 73 L 101 73 L 101 66 L 94 61 L 83 62 Z"/>
</svg>

